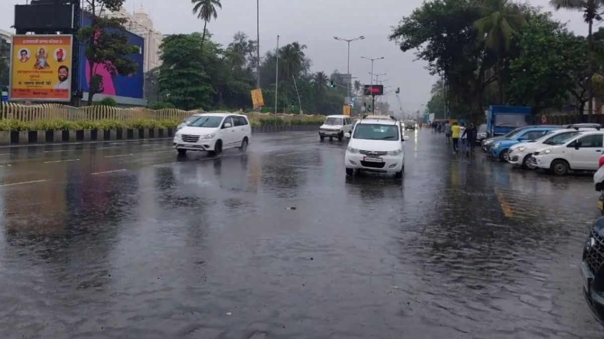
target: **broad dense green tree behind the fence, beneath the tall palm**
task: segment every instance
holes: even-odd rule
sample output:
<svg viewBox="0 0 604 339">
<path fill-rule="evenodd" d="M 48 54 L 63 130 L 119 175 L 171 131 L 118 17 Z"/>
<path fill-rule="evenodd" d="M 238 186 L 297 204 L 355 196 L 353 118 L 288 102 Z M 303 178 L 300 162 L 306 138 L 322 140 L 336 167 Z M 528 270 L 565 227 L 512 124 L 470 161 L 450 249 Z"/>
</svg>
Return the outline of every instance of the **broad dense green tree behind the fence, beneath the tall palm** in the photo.
<svg viewBox="0 0 604 339">
<path fill-rule="evenodd" d="M 202 52 L 202 35 L 175 34 L 164 37 L 160 46 L 159 86 L 162 96 L 179 109 L 213 106 L 214 89 L 206 71 L 210 54 Z M 210 45 L 210 46 L 208 46 Z M 207 44 L 205 49 L 214 47 Z"/>
</svg>

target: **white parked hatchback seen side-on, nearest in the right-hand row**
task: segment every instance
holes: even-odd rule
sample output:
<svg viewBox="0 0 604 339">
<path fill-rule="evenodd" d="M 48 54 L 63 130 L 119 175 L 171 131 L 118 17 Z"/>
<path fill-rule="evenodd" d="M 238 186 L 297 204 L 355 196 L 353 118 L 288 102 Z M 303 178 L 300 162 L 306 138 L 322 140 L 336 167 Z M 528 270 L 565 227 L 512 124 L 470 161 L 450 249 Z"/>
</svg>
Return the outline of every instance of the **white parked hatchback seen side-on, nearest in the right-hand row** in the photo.
<svg viewBox="0 0 604 339">
<path fill-rule="evenodd" d="M 604 150 L 604 131 L 580 131 L 562 145 L 544 147 L 533 153 L 536 167 L 564 176 L 569 171 L 597 171 Z"/>
</svg>

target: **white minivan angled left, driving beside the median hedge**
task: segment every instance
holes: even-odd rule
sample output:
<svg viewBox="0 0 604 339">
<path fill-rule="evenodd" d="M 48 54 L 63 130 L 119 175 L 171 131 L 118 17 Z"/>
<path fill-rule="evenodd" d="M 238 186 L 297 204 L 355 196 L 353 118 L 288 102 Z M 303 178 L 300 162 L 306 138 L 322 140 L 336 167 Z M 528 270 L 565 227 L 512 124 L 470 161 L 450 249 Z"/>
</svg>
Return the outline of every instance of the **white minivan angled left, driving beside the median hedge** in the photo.
<svg viewBox="0 0 604 339">
<path fill-rule="evenodd" d="M 178 154 L 207 151 L 220 154 L 228 148 L 246 150 L 252 139 L 248 117 L 231 113 L 204 113 L 178 130 L 174 148 Z"/>
</svg>

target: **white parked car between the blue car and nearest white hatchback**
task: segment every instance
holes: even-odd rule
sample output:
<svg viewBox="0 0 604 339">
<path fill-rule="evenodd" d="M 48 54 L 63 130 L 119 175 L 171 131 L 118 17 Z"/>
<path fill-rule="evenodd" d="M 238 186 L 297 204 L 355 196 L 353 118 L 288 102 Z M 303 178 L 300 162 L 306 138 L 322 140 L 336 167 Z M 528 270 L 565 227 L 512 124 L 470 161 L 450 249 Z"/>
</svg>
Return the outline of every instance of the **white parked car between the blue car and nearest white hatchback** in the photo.
<svg viewBox="0 0 604 339">
<path fill-rule="evenodd" d="M 596 128 L 590 127 L 577 127 L 564 130 L 553 130 L 535 140 L 534 142 L 521 142 L 520 144 L 510 147 L 508 162 L 512 165 L 522 166 L 522 168 L 534 170 L 535 164 L 533 163 L 533 153 L 540 148 L 544 148 L 548 145 L 561 145 L 564 144 L 568 139 L 573 138 L 579 131 L 595 131 Z"/>
</svg>

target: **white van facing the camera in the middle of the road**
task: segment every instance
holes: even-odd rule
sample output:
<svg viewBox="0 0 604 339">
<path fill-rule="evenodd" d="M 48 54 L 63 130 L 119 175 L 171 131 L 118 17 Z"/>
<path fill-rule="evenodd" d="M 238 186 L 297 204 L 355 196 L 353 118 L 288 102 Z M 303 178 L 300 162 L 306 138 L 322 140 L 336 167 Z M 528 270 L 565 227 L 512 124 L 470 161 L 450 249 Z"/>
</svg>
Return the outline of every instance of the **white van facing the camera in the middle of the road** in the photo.
<svg viewBox="0 0 604 339">
<path fill-rule="evenodd" d="M 348 133 L 347 133 L 348 134 Z M 357 122 L 344 158 L 346 174 L 355 171 L 393 173 L 405 171 L 405 141 L 402 125 L 391 117 L 371 116 Z"/>
</svg>

